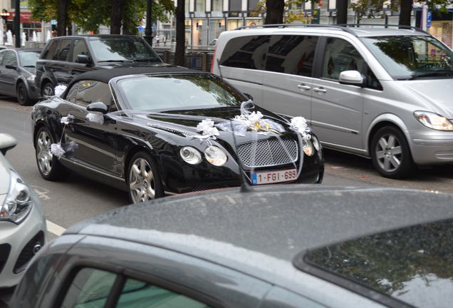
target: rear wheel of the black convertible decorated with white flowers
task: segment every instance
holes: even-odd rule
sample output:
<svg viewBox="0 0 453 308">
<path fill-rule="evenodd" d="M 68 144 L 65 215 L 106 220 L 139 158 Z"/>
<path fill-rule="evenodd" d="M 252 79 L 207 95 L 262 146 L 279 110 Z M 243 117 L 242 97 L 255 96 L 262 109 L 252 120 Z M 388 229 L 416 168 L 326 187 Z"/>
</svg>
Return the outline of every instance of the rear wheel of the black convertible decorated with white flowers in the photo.
<svg viewBox="0 0 453 308">
<path fill-rule="evenodd" d="M 51 132 L 45 126 L 38 130 L 35 139 L 36 164 L 45 180 L 62 180 L 71 175 L 71 171 L 61 165 L 55 155 L 52 155 L 51 144 L 54 142 Z"/>
</svg>

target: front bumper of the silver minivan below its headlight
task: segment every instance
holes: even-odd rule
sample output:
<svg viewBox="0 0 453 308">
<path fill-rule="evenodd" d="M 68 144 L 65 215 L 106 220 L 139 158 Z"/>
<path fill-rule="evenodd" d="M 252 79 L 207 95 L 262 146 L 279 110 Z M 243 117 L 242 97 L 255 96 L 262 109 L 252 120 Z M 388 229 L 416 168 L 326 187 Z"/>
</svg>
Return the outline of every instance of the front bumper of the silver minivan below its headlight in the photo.
<svg viewBox="0 0 453 308">
<path fill-rule="evenodd" d="M 417 165 L 453 163 L 453 132 L 438 135 L 410 134 L 412 158 Z"/>
</svg>

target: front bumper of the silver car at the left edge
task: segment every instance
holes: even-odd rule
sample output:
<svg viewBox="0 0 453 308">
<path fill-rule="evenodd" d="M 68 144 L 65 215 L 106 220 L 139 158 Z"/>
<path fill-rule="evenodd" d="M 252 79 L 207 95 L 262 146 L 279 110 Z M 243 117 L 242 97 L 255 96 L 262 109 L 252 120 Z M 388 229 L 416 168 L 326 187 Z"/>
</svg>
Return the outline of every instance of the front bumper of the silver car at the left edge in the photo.
<svg viewBox="0 0 453 308">
<path fill-rule="evenodd" d="M 33 207 L 20 225 L 0 221 L 0 288 L 18 284 L 33 257 L 33 247 L 44 245 L 46 220 L 38 197 L 32 193 Z"/>
</svg>

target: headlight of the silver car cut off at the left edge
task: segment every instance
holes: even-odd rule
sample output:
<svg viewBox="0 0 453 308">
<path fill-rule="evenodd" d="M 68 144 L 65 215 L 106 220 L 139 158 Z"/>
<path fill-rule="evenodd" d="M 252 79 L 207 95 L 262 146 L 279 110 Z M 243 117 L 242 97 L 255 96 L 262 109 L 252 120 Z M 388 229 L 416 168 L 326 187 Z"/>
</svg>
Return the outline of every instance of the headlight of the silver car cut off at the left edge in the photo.
<svg viewBox="0 0 453 308">
<path fill-rule="evenodd" d="M 11 183 L 8 195 L 0 207 L 0 220 L 9 220 L 19 224 L 31 211 L 33 202 L 30 200 L 30 191 L 24 180 L 14 170 L 10 170 L 10 175 Z"/>
</svg>

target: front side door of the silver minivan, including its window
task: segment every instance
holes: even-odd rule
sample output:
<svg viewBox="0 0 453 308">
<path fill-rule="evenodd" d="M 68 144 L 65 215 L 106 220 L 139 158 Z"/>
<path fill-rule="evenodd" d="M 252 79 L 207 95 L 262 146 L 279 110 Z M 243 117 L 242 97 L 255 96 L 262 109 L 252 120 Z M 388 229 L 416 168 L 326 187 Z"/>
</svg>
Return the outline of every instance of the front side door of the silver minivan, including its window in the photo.
<svg viewBox="0 0 453 308">
<path fill-rule="evenodd" d="M 357 152 L 363 149 L 363 88 L 340 84 L 342 71 L 362 72 L 366 63 L 352 43 L 323 38 L 321 71 L 313 82 L 311 125 L 327 146 Z M 325 47 L 325 48 L 323 48 Z"/>
</svg>

